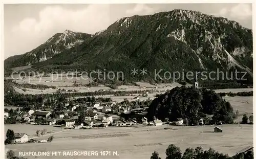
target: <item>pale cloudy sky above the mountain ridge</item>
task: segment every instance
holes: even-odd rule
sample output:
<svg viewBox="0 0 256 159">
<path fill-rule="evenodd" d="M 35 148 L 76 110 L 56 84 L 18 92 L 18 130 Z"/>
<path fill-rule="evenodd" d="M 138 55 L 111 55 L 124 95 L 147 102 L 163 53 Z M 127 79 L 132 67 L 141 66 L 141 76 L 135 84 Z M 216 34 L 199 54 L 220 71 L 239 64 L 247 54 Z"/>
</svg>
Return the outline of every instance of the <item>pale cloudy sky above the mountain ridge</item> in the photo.
<svg viewBox="0 0 256 159">
<path fill-rule="evenodd" d="M 122 17 L 174 9 L 226 17 L 252 29 L 251 4 L 5 4 L 4 58 L 25 54 L 67 29 L 94 34 Z"/>
</svg>

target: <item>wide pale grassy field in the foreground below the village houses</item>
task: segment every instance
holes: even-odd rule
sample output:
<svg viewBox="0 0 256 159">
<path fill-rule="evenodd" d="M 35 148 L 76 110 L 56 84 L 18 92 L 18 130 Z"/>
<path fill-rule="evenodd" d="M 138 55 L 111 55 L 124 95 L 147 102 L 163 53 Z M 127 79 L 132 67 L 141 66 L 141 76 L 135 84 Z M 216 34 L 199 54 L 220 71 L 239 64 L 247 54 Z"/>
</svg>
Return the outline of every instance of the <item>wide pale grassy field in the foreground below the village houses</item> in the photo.
<svg viewBox="0 0 256 159">
<path fill-rule="evenodd" d="M 252 125 L 222 125 L 223 133 L 212 133 L 214 126 L 148 126 L 139 128 L 108 127 L 105 129 L 67 130 L 54 134 L 52 143 L 6 145 L 6 150 L 19 151 L 117 151 L 118 156 L 87 156 L 86 158 L 150 158 L 157 150 L 165 157 L 169 144 L 184 151 L 187 147 L 209 147 L 233 155 L 252 144 Z M 204 132 L 205 131 L 205 132 Z M 208 131 L 208 132 L 206 132 Z M 41 137 L 42 139 L 44 137 Z M 45 137 L 47 138 L 47 137 Z M 70 156 L 59 156 L 59 158 Z M 35 158 L 35 157 L 28 157 Z M 56 158 L 45 156 L 38 158 Z M 58 157 L 57 157 L 58 158 Z M 72 156 L 84 158 L 84 156 Z"/>
</svg>

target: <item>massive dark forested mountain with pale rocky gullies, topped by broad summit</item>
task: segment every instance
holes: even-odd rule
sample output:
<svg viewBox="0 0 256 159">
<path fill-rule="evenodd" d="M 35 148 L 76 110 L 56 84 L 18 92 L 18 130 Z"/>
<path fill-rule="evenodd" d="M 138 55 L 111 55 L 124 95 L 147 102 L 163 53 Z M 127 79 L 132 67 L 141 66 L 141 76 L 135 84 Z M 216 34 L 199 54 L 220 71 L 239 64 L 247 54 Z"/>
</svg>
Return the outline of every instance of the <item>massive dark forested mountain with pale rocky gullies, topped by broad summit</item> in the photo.
<svg viewBox="0 0 256 159">
<path fill-rule="evenodd" d="M 56 48 L 64 46 L 65 40 L 56 39 L 65 37 L 63 34 L 51 38 L 55 50 L 50 50 L 50 55 L 44 53 L 48 51 L 45 46 L 49 48 L 46 42 L 23 56 L 31 58 L 22 57 L 11 65 L 34 63 L 34 67 L 42 70 L 45 66 L 60 70 L 106 69 L 129 72 L 127 75 L 134 68 L 144 68 L 151 78 L 155 69 L 157 72 L 238 69 L 252 76 L 252 30 L 236 21 L 197 11 L 173 10 L 124 17 L 95 35 L 84 34 L 87 40 L 70 49 L 66 49 L 66 44 L 61 52 Z M 34 52 L 36 58 L 31 56 Z"/>
</svg>

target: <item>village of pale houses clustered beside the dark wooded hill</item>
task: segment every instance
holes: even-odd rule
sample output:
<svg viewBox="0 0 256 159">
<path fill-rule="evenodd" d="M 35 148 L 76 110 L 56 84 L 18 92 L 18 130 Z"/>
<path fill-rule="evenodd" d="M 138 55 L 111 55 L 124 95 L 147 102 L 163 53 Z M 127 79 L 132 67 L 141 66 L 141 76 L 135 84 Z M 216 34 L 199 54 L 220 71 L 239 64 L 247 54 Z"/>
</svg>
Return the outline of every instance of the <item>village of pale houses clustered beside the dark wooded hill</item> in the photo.
<svg viewBox="0 0 256 159">
<path fill-rule="evenodd" d="M 140 127 L 140 126 L 161 126 L 161 125 L 176 125 L 187 126 L 187 119 L 178 118 L 176 121 L 161 121 L 154 119 L 148 121 L 146 118 L 147 108 L 134 108 L 131 106 L 122 105 L 121 103 L 105 102 L 95 103 L 92 106 L 82 105 L 75 103 L 70 106 L 69 103 L 65 104 L 63 110 L 56 111 L 54 109 L 37 109 L 34 110 L 29 107 L 17 108 L 16 110 L 5 109 L 5 122 L 15 120 L 15 124 L 30 124 L 30 125 L 51 125 L 54 127 L 61 127 L 61 129 L 99 129 L 108 128 L 109 126 L 116 127 Z M 69 109 L 70 108 L 70 109 Z M 128 117 L 128 120 L 122 116 Z M 129 118 L 134 117 L 136 118 Z M 211 117 L 201 118 L 199 125 L 212 124 Z M 221 125 L 221 123 L 219 123 Z M 167 129 L 167 128 L 164 128 Z M 39 132 L 41 131 L 41 133 Z M 37 135 L 44 135 L 46 129 L 37 130 Z M 86 130 L 85 130 L 86 131 Z M 219 127 L 214 128 L 214 132 L 222 132 Z M 48 132 L 51 133 L 51 132 Z M 15 132 L 15 140 L 13 143 L 46 143 L 51 142 L 53 137 L 48 140 L 37 140 L 35 138 L 28 138 L 28 134 L 24 132 Z"/>
</svg>

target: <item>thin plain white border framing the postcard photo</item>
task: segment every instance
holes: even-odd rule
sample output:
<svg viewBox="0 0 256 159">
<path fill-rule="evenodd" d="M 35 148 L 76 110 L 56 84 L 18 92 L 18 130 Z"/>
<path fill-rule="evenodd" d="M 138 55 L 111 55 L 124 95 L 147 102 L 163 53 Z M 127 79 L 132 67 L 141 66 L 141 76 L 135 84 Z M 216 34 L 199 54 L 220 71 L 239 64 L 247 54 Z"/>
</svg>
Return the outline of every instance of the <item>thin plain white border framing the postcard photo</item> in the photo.
<svg viewBox="0 0 256 159">
<path fill-rule="evenodd" d="M 89 1 L 83 1 L 83 0 L 76 0 L 76 1 L 63 1 L 63 0 L 55 0 L 55 1 L 49 1 L 49 0 L 41 0 L 41 1 L 38 1 L 38 0 L 23 0 L 23 1 L 18 1 L 18 0 L 5 0 L 5 1 L 2 1 L 1 2 L 1 26 L 0 26 L 0 29 L 1 29 L 1 42 L 0 42 L 0 48 L 1 48 L 1 59 L 2 59 L 2 68 L 1 68 L 1 76 L 4 78 L 4 4 L 165 4 L 165 3 L 168 3 L 168 4 L 186 4 L 186 3 L 192 3 L 192 4 L 217 4 L 217 3 L 251 3 L 252 4 L 252 33 L 253 33 L 253 53 L 255 53 L 255 48 L 256 48 L 256 43 L 254 42 L 256 40 L 255 38 L 255 27 L 256 27 L 256 24 L 255 24 L 255 1 L 253 0 L 215 0 L 215 1 L 202 1 L 202 0 L 194 0 L 194 1 L 189 1 L 189 0 L 183 0 L 183 1 L 180 1 L 180 0 L 173 0 L 173 1 L 168 1 L 168 0 L 158 0 L 158 1 L 155 1 L 155 0 L 147 0 L 147 1 L 138 1 L 138 0 L 130 0 L 130 1 L 127 1 L 127 0 L 123 0 L 123 1 L 120 1 L 120 0 L 89 0 Z M 256 58 L 256 55 L 253 54 L 253 59 Z M 256 64 L 253 60 L 253 70 L 256 69 Z M 253 83 L 256 82 L 256 78 L 253 78 Z M 4 140 L 5 140 L 5 131 L 4 131 L 4 80 L 2 80 L 1 82 L 1 85 L 0 85 L 0 90 L 1 90 L 1 96 L 0 96 L 0 101 L 2 102 L 2 111 L 1 112 L 1 120 L 0 120 L 0 123 L 1 123 L 1 132 L 0 132 L 0 158 L 5 158 L 5 145 L 4 145 Z M 255 86 L 253 84 L 253 113 L 255 114 L 256 113 L 256 109 L 254 109 L 254 101 L 256 101 L 256 97 L 255 97 Z M 255 119 L 256 117 L 254 117 Z M 246 135 L 246 134 L 245 134 Z M 256 136 L 256 132 L 255 132 L 255 126 L 253 125 L 253 146 L 256 139 L 254 138 Z M 3 153 L 4 152 L 4 153 Z M 255 154 L 255 151 L 254 151 L 254 158 L 256 158 L 256 154 Z"/>
</svg>

